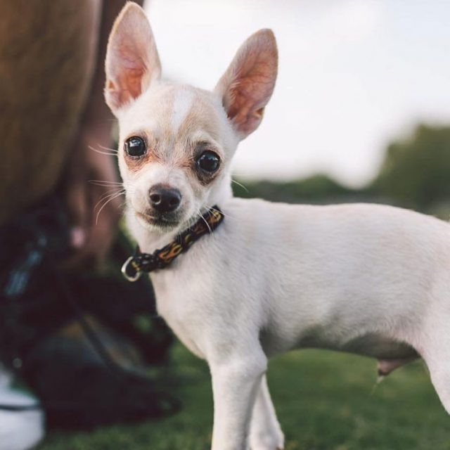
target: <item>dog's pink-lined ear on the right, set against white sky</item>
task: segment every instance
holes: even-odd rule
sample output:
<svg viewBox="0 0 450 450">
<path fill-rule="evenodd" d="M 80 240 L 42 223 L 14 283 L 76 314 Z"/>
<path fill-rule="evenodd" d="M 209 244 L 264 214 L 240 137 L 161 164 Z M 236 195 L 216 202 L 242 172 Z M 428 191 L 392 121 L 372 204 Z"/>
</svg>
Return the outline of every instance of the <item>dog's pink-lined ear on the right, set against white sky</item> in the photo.
<svg viewBox="0 0 450 450">
<path fill-rule="evenodd" d="M 255 131 L 274 91 L 278 51 L 274 33 L 259 30 L 244 42 L 214 92 L 240 139 Z"/>
</svg>

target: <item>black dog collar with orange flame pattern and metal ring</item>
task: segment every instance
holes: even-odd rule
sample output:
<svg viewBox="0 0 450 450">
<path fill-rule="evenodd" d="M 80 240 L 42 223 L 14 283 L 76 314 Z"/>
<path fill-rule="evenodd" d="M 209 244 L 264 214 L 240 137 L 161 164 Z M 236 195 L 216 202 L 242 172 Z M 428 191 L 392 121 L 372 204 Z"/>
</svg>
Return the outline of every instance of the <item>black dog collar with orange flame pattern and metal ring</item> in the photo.
<svg viewBox="0 0 450 450">
<path fill-rule="evenodd" d="M 205 212 L 191 228 L 184 230 L 176 236 L 172 243 L 165 245 L 160 250 L 155 250 L 153 253 L 142 253 L 139 247 L 136 247 L 134 255 L 129 257 L 122 266 L 123 276 L 128 281 L 136 281 L 142 272 L 165 269 L 177 256 L 187 252 L 195 240 L 217 229 L 222 220 L 224 220 L 224 214 L 219 207 L 214 206 Z"/>
</svg>

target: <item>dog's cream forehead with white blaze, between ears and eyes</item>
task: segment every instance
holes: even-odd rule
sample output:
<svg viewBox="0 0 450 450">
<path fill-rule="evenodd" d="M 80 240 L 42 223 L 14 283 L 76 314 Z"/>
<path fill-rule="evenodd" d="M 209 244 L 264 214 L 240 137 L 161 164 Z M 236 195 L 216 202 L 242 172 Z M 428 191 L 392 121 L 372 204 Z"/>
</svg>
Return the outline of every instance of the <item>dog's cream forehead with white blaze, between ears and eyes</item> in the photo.
<svg viewBox="0 0 450 450">
<path fill-rule="evenodd" d="M 214 94 L 188 85 L 150 89 L 130 108 L 125 134 L 143 131 L 160 143 L 214 139 L 221 134 L 221 106 Z"/>
</svg>

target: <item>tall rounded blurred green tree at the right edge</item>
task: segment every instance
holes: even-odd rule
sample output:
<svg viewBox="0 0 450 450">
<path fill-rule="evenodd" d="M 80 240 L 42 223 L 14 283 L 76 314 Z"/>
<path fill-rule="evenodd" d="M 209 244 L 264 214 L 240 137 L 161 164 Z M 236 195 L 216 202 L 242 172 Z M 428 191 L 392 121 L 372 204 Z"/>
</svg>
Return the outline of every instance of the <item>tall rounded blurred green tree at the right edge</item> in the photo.
<svg viewBox="0 0 450 450">
<path fill-rule="evenodd" d="M 373 188 L 393 203 L 430 211 L 450 199 L 450 127 L 420 124 L 394 141 Z"/>
</svg>

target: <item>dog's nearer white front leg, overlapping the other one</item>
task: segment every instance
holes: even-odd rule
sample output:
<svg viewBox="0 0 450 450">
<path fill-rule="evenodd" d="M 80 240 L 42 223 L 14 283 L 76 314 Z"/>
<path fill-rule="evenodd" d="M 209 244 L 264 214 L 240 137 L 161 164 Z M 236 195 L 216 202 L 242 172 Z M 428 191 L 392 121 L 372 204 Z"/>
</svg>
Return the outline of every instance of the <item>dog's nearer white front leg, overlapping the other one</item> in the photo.
<svg viewBox="0 0 450 450">
<path fill-rule="evenodd" d="M 262 349 L 210 361 L 214 394 L 212 450 L 248 450 L 255 397 L 266 371 Z"/>
</svg>

